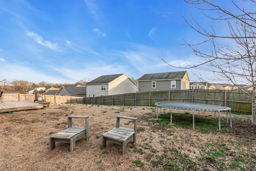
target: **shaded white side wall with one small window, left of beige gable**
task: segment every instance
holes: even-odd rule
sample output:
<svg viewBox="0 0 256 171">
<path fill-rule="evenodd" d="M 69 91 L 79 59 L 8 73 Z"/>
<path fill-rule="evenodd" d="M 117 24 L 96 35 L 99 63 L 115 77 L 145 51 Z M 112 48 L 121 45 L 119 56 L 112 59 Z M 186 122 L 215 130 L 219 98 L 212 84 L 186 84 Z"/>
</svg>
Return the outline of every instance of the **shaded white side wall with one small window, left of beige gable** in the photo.
<svg viewBox="0 0 256 171">
<path fill-rule="evenodd" d="M 101 85 L 106 85 L 106 90 L 102 91 L 101 90 Z M 89 97 L 89 93 L 91 94 L 91 97 L 93 97 L 93 95 L 95 96 L 100 96 L 100 95 L 110 95 L 108 92 L 109 86 L 108 84 L 93 84 L 93 85 L 87 85 L 86 87 L 86 97 Z"/>
</svg>

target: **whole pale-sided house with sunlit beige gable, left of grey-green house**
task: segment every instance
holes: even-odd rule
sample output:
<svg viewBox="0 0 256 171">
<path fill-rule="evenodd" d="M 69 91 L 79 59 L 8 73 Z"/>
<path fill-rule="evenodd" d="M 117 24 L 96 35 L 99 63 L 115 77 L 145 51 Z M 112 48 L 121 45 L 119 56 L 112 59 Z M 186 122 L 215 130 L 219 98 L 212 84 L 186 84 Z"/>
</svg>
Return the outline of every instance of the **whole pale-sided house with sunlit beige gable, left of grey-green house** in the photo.
<svg viewBox="0 0 256 171">
<path fill-rule="evenodd" d="M 136 93 L 136 84 L 126 74 L 100 76 L 86 84 L 86 97 Z"/>
</svg>

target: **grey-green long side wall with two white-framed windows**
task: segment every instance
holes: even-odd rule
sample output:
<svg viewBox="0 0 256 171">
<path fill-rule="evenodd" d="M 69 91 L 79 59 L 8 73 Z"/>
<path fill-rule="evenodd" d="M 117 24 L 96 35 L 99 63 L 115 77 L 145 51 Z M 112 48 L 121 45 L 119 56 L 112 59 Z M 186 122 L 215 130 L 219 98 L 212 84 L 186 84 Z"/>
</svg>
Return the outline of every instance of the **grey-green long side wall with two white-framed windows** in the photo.
<svg viewBox="0 0 256 171">
<path fill-rule="evenodd" d="M 171 81 L 176 81 L 176 88 L 171 88 Z M 152 82 L 156 82 L 156 88 L 152 88 Z M 178 90 L 181 87 L 181 80 L 148 80 L 139 81 L 138 84 L 138 92 Z"/>
</svg>

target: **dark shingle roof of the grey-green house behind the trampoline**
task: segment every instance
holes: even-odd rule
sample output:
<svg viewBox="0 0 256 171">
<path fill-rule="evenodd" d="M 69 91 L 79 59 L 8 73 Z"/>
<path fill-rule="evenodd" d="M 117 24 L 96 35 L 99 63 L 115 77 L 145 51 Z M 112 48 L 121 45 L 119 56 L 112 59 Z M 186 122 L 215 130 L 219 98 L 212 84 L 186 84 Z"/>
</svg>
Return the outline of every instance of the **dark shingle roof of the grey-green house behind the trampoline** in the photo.
<svg viewBox="0 0 256 171">
<path fill-rule="evenodd" d="M 178 72 L 163 72 L 163 73 L 155 73 L 155 74 L 144 74 L 142 77 L 138 79 L 138 81 L 142 80 L 176 80 L 184 78 L 186 71 L 178 71 Z"/>
</svg>

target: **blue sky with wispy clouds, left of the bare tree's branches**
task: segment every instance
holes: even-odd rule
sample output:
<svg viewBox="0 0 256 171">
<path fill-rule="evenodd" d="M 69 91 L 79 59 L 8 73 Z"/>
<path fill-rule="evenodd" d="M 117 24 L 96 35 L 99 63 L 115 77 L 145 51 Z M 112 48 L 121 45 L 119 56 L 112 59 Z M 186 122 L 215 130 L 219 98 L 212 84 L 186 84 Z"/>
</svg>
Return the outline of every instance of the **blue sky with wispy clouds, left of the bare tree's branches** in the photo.
<svg viewBox="0 0 256 171">
<path fill-rule="evenodd" d="M 0 0 L 0 80 L 74 84 L 183 71 L 156 54 L 172 64 L 200 61 L 177 45 L 202 39 L 182 25 L 190 13 L 204 23 L 183 0 Z M 187 71 L 191 81 L 207 75 Z"/>
</svg>

